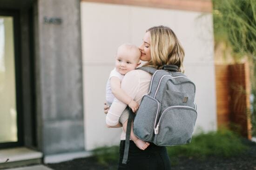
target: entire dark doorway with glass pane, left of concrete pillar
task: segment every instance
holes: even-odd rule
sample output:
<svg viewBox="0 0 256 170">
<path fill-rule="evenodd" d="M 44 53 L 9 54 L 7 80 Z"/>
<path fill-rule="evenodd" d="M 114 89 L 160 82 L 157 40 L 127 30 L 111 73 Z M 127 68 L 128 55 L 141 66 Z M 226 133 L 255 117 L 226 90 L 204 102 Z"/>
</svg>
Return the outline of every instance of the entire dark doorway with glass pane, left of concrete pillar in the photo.
<svg viewBox="0 0 256 170">
<path fill-rule="evenodd" d="M 37 148 L 35 0 L 0 0 L 0 149 Z"/>
</svg>

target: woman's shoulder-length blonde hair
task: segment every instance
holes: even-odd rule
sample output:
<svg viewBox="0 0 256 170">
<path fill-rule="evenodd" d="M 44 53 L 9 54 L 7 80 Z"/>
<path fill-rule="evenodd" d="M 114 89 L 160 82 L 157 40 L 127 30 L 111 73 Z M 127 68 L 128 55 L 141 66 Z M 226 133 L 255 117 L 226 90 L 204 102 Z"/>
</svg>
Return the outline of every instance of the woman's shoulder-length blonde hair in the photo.
<svg viewBox="0 0 256 170">
<path fill-rule="evenodd" d="M 184 72 L 184 50 L 175 33 L 167 26 L 154 26 L 146 33 L 150 34 L 151 60 L 146 65 L 162 69 L 163 65 L 177 65 Z"/>
</svg>

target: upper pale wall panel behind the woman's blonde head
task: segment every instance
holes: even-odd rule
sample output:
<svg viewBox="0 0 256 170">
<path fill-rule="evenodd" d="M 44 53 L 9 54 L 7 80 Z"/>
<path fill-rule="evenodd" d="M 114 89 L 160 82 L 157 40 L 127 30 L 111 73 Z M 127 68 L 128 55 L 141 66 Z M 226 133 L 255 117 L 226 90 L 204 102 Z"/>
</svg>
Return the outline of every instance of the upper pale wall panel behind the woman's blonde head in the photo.
<svg viewBox="0 0 256 170">
<path fill-rule="evenodd" d="M 151 26 L 169 26 L 185 50 L 185 63 L 213 62 L 211 14 L 179 10 L 132 7 L 132 42 L 140 45 Z"/>
</svg>

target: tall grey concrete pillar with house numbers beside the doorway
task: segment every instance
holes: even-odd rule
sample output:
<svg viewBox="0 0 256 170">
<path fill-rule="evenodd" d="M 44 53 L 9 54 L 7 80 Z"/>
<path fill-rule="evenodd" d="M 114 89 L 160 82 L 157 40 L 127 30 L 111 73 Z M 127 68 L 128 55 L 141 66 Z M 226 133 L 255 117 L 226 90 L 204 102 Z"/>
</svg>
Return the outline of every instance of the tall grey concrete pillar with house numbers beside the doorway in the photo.
<svg viewBox="0 0 256 170">
<path fill-rule="evenodd" d="M 80 0 L 38 0 L 35 16 L 39 147 L 45 155 L 84 150 Z"/>
</svg>

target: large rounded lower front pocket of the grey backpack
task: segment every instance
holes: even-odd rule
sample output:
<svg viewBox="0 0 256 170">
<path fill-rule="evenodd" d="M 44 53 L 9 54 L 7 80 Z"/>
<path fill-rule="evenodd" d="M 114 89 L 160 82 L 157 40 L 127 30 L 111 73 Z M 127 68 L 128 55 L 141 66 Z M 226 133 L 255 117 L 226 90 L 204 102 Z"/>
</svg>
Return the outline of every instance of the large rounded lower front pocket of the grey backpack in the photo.
<svg viewBox="0 0 256 170">
<path fill-rule="evenodd" d="M 188 144 L 191 141 L 197 113 L 188 106 L 172 106 L 162 112 L 155 135 L 157 145 Z"/>
</svg>

